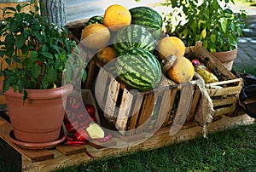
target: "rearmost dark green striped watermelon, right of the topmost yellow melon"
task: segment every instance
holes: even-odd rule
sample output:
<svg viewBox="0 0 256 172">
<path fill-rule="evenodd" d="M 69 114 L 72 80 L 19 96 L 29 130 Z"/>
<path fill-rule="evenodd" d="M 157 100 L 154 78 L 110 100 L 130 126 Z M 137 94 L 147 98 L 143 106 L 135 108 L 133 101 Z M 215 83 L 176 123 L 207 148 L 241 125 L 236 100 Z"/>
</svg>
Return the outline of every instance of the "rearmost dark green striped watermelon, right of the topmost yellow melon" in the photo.
<svg viewBox="0 0 256 172">
<path fill-rule="evenodd" d="M 146 26 L 155 39 L 160 37 L 163 19 L 156 10 L 140 6 L 129 11 L 131 13 L 131 24 Z"/>
</svg>

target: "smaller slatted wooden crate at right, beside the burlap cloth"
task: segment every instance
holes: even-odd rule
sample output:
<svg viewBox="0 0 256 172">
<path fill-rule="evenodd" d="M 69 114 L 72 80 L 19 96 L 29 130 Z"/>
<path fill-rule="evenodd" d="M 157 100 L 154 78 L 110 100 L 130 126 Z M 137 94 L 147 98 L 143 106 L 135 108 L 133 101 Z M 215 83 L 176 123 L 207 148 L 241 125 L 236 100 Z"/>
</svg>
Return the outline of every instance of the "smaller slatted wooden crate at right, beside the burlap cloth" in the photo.
<svg viewBox="0 0 256 172">
<path fill-rule="evenodd" d="M 207 83 L 207 93 L 212 98 L 215 116 L 229 115 L 236 116 L 239 95 L 242 88 L 242 78 L 237 78 L 232 72 L 226 69 L 207 49 L 204 49 L 201 42 L 186 49 L 186 54 L 194 53 L 212 71 L 217 72 L 221 81 Z"/>
</svg>

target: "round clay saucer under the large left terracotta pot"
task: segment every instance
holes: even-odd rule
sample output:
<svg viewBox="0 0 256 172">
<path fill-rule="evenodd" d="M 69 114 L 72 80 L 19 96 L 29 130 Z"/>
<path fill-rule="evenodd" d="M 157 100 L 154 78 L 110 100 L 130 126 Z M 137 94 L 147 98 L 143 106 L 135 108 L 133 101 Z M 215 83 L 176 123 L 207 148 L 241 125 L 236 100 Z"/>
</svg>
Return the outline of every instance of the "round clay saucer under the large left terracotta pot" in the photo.
<svg viewBox="0 0 256 172">
<path fill-rule="evenodd" d="M 55 141 L 49 141 L 44 143 L 31 143 L 31 142 L 23 142 L 15 139 L 14 130 L 9 132 L 9 140 L 15 143 L 17 146 L 20 146 L 25 149 L 48 149 L 60 144 L 62 141 L 66 139 L 65 135 L 61 132 L 60 138 Z"/>
</svg>

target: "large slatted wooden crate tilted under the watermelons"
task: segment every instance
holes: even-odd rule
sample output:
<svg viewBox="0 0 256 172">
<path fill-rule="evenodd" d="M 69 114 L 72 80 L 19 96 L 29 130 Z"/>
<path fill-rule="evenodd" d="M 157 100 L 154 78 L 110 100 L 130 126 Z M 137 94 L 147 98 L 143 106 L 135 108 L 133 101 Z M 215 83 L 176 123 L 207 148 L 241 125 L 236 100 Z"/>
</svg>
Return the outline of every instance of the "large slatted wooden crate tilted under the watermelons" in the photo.
<svg viewBox="0 0 256 172">
<path fill-rule="evenodd" d="M 180 129 L 192 119 L 200 94 L 192 83 L 145 92 L 129 89 L 95 58 L 90 61 L 85 85 L 94 92 L 102 115 L 122 135 L 155 132 L 173 123 Z"/>
</svg>

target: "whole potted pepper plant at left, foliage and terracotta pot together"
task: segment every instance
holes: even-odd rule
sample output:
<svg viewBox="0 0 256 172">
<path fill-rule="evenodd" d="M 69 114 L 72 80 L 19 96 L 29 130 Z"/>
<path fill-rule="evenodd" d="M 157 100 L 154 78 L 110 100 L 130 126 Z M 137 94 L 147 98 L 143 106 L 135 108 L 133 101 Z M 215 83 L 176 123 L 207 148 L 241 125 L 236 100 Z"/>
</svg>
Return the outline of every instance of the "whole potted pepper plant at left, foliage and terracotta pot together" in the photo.
<svg viewBox="0 0 256 172">
<path fill-rule="evenodd" d="M 67 28 L 60 32 L 40 14 L 44 4 L 21 12 L 28 5 L 32 3 L 2 9 L 0 57 L 8 66 L 1 63 L 1 89 L 15 139 L 49 143 L 60 136 L 67 95 L 73 78 L 86 78 L 85 63 Z"/>
</svg>

